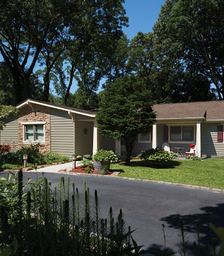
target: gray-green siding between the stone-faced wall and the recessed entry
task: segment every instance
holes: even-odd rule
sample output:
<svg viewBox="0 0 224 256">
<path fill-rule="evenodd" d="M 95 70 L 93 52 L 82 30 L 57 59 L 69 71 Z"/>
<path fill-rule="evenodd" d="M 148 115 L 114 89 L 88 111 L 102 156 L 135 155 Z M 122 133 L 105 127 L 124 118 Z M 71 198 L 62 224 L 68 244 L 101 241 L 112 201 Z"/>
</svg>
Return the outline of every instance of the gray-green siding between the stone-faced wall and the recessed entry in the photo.
<svg viewBox="0 0 224 256">
<path fill-rule="evenodd" d="M 74 154 L 74 122 L 65 111 L 50 110 L 50 150 L 63 156 Z"/>
</svg>

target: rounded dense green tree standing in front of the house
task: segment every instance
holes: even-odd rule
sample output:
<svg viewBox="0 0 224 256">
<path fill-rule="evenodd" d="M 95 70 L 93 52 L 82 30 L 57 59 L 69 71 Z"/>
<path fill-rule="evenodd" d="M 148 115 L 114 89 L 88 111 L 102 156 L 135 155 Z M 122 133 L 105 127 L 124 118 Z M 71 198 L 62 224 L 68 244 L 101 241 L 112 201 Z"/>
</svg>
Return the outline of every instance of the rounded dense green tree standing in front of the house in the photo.
<svg viewBox="0 0 224 256">
<path fill-rule="evenodd" d="M 128 164 L 136 135 L 151 130 L 155 118 L 151 105 L 150 91 L 135 75 L 107 83 L 100 95 L 100 111 L 96 114 L 99 132 L 113 139 L 124 137 Z"/>
</svg>

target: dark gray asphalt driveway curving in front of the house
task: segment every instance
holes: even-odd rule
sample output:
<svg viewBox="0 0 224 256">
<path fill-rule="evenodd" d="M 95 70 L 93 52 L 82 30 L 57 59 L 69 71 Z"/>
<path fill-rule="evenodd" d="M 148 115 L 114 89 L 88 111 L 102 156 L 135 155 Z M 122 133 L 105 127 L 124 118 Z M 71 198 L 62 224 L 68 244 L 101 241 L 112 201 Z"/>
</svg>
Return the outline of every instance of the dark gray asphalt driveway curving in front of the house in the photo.
<svg viewBox="0 0 224 256">
<path fill-rule="evenodd" d="M 0 176 L 4 176 L 3 172 Z M 40 173 L 38 174 L 41 175 Z M 24 176 L 36 179 L 34 172 L 24 172 Z M 60 176 L 67 175 L 46 173 L 52 186 L 58 186 Z M 194 239 L 196 223 L 201 223 L 202 241 L 211 243 L 212 235 L 208 223 L 224 226 L 224 193 L 199 191 L 140 181 L 118 180 L 107 177 L 70 176 L 79 191 L 83 191 L 84 180 L 91 191 L 93 200 L 95 189 L 98 191 L 100 212 L 107 217 L 109 207 L 113 207 L 115 216 L 120 208 L 124 213 L 127 226 L 136 229 L 133 237 L 144 248 L 153 244 L 163 244 L 162 223 L 166 225 L 166 246 L 178 251 L 179 222 L 185 222 L 188 241 Z"/>
</svg>

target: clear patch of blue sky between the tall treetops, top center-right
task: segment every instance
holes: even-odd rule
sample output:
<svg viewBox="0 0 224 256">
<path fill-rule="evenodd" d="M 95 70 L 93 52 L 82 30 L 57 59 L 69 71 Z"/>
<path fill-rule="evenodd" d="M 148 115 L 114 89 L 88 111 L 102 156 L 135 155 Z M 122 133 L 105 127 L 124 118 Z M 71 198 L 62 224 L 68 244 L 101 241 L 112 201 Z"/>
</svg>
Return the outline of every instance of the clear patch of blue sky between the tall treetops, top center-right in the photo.
<svg viewBox="0 0 224 256">
<path fill-rule="evenodd" d="M 131 40 L 137 32 L 148 33 L 157 21 L 161 5 L 165 0 L 126 0 L 124 8 L 129 17 L 129 27 L 124 27 L 124 32 Z"/>
</svg>

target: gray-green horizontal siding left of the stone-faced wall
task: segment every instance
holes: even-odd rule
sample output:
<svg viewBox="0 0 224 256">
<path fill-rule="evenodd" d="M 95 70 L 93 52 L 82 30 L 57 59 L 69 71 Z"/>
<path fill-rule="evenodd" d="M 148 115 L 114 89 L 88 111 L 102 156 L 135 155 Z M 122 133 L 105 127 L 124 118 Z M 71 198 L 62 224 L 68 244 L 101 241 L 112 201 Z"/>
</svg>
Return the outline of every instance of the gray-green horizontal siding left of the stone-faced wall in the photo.
<svg viewBox="0 0 224 256">
<path fill-rule="evenodd" d="M 0 132 L 0 144 L 10 144 L 17 147 L 18 141 L 18 119 L 17 117 L 10 117 L 5 121 L 5 126 Z"/>
</svg>

